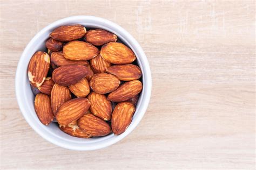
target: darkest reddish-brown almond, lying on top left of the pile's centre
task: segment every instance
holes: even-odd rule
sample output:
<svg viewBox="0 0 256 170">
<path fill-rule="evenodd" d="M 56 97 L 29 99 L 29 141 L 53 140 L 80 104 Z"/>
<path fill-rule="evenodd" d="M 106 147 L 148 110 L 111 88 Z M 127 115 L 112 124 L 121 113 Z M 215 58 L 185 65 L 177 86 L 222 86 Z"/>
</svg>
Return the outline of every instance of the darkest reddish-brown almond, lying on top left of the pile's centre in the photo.
<svg viewBox="0 0 256 170">
<path fill-rule="evenodd" d="M 70 86 L 82 80 L 87 73 L 88 70 L 85 66 L 61 66 L 53 70 L 52 79 L 61 86 Z"/>
</svg>

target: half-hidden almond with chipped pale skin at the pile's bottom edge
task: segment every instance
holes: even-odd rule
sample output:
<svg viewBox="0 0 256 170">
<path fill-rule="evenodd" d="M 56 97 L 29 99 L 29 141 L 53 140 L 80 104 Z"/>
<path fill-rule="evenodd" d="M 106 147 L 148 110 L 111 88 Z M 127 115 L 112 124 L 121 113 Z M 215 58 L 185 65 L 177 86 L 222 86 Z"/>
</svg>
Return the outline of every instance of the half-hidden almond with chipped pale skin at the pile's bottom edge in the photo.
<svg viewBox="0 0 256 170">
<path fill-rule="evenodd" d="M 83 130 L 81 130 L 77 126 L 77 121 L 73 121 L 73 122 L 76 122 L 76 124 L 59 125 L 59 129 L 71 136 L 74 136 L 74 137 L 78 137 L 78 138 L 90 138 L 91 137 L 89 134 L 85 133 Z"/>
</svg>

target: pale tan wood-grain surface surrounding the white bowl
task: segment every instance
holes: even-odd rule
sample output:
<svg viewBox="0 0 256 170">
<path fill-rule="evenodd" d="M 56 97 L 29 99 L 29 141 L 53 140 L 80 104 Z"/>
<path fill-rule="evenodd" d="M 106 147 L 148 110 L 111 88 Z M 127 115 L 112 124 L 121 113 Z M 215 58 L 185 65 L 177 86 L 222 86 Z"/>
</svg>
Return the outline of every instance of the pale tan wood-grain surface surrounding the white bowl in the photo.
<svg viewBox="0 0 256 170">
<path fill-rule="evenodd" d="M 1 0 L 1 169 L 255 169 L 254 1 Z M 152 97 L 136 130 L 98 151 L 45 141 L 23 118 L 15 72 L 35 34 L 92 15 L 143 47 Z"/>
</svg>

